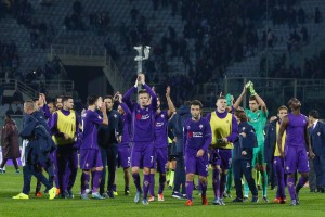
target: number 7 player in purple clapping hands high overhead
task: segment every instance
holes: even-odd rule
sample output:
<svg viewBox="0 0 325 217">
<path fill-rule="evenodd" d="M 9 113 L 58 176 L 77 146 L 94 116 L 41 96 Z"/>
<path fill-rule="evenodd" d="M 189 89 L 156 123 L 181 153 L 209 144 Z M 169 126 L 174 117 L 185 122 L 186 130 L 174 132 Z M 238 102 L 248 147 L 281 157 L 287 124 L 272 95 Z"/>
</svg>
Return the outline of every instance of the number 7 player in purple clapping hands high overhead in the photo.
<svg viewBox="0 0 325 217">
<path fill-rule="evenodd" d="M 138 82 L 145 90 L 140 90 L 138 94 L 139 104 L 131 101 L 131 94 L 136 90 Z M 150 104 L 150 98 L 152 103 Z M 139 75 L 134 87 L 132 87 L 122 98 L 122 101 L 132 112 L 132 135 L 133 142 L 131 153 L 132 177 L 136 187 L 134 202 L 140 202 L 142 193 L 140 187 L 139 168 L 143 166 L 143 205 L 147 205 L 147 193 L 150 188 L 150 168 L 153 166 L 153 151 L 155 138 L 155 114 L 157 111 L 157 97 L 155 92 L 145 84 L 143 74 Z"/>
</svg>

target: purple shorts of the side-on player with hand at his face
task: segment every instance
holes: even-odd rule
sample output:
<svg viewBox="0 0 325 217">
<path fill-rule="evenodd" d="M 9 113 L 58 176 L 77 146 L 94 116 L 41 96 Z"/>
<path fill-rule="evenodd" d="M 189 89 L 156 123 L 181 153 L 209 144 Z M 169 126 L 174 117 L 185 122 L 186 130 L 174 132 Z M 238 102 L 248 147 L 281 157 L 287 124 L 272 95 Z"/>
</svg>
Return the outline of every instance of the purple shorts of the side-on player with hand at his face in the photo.
<svg viewBox="0 0 325 217">
<path fill-rule="evenodd" d="M 89 170 L 103 167 L 100 150 L 80 149 L 80 168 Z"/>
</svg>

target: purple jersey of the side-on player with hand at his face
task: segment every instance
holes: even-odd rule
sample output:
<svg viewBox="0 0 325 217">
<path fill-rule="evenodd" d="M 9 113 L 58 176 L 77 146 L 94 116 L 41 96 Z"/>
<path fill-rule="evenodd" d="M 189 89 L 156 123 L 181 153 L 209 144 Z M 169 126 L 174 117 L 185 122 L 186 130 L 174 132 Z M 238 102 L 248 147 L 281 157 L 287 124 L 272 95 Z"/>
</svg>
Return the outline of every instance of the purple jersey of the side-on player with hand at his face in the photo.
<svg viewBox="0 0 325 217">
<path fill-rule="evenodd" d="M 94 111 L 87 110 L 82 115 L 82 144 L 80 149 L 99 149 L 98 128 L 103 118 Z"/>
</svg>

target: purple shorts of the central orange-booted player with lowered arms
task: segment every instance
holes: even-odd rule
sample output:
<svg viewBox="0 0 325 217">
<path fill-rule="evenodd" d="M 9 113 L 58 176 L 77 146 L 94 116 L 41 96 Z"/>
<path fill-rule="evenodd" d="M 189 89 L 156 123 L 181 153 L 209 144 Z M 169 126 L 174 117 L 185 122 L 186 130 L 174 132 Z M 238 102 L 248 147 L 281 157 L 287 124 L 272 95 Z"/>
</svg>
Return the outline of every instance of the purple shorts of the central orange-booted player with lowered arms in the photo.
<svg viewBox="0 0 325 217">
<path fill-rule="evenodd" d="M 186 174 L 196 174 L 207 177 L 209 175 L 208 153 L 205 153 L 202 157 L 197 157 L 196 153 L 186 153 L 185 167 Z"/>
</svg>

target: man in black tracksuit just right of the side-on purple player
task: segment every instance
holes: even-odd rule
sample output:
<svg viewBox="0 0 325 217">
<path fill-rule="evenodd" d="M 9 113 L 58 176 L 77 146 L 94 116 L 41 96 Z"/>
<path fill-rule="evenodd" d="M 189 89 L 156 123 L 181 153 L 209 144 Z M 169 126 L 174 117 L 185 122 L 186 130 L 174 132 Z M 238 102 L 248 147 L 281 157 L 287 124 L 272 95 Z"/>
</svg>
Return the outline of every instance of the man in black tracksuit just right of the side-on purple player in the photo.
<svg viewBox="0 0 325 217">
<path fill-rule="evenodd" d="M 106 95 L 104 98 L 104 103 L 106 104 L 106 111 L 108 117 L 108 125 L 101 126 L 99 129 L 99 145 L 101 150 L 101 156 L 103 161 L 103 174 L 100 193 L 104 195 L 105 179 L 106 179 L 106 165 L 108 166 L 108 180 L 107 180 L 107 196 L 114 199 L 114 180 L 115 171 L 117 166 L 117 143 L 118 137 L 122 131 L 122 122 L 120 114 L 113 110 L 114 99 L 112 95 Z"/>
</svg>

